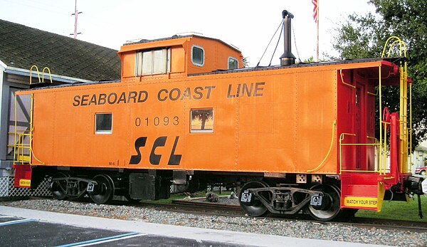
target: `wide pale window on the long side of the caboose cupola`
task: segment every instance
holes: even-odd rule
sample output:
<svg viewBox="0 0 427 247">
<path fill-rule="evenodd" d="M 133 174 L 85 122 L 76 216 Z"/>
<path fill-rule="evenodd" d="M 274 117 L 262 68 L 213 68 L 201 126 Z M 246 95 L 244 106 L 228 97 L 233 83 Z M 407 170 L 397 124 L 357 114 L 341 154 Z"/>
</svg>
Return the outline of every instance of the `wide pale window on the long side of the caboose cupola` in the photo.
<svg viewBox="0 0 427 247">
<path fill-rule="evenodd" d="M 159 75 L 170 71 L 169 49 L 138 51 L 135 61 L 135 75 Z"/>
</svg>

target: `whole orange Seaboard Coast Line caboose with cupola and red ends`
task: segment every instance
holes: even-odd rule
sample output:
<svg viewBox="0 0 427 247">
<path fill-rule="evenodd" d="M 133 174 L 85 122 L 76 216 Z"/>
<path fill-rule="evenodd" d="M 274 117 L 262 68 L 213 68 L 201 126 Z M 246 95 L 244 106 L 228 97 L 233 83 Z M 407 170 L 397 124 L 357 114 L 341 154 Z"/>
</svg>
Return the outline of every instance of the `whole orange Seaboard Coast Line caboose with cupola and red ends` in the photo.
<svg viewBox="0 0 427 247">
<path fill-rule="evenodd" d="M 380 155 L 384 130 L 408 152 L 406 125 L 375 114 L 382 86 L 406 88 L 402 59 L 243 68 L 236 48 L 195 35 L 125 44 L 118 55 L 120 81 L 17 93 L 32 108 L 31 133 L 16 138 L 29 147 L 16 154 L 17 184 L 48 176 L 57 199 L 88 193 L 103 204 L 224 183 L 241 189 L 250 215 L 307 209 L 330 220 L 381 209 L 384 190 L 408 179 L 401 152 L 391 151 L 400 157 L 391 168 Z"/>
</svg>

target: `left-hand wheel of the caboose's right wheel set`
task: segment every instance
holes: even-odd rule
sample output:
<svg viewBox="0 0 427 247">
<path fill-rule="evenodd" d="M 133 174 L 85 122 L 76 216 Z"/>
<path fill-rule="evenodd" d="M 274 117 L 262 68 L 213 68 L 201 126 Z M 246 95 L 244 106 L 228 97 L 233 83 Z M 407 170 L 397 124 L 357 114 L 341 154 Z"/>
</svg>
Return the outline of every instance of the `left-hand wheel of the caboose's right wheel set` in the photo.
<svg viewBox="0 0 427 247">
<path fill-rule="evenodd" d="M 243 211 L 245 211 L 246 214 L 248 214 L 249 216 L 253 216 L 253 217 L 263 216 L 265 213 L 267 213 L 268 209 L 256 197 L 254 197 L 251 202 L 241 201 L 240 199 L 242 198 L 243 192 L 247 189 L 258 189 L 258 188 L 265 188 L 265 187 L 268 187 L 268 185 L 260 181 L 248 182 L 245 185 L 243 185 L 241 189 L 241 193 L 238 196 L 238 198 Z M 266 198 L 270 197 L 269 194 L 265 194 L 265 196 L 267 196 Z"/>
</svg>

